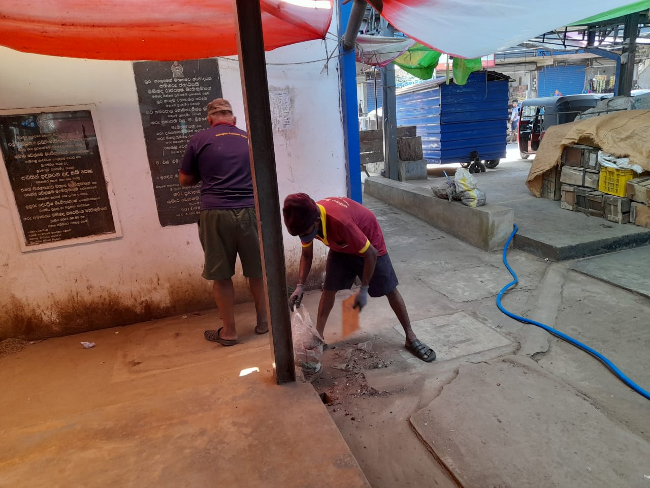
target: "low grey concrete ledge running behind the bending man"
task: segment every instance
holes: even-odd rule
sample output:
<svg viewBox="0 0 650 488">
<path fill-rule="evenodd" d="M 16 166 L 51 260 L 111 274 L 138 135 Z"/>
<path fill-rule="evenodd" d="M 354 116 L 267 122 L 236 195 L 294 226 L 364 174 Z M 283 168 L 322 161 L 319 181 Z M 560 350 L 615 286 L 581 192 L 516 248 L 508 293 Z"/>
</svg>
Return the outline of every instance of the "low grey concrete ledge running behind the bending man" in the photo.
<svg viewBox="0 0 650 488">
<path fill-rule="evenodd" d="M 430 188 L 395 182 L 381 176 L 365 180 L 365 193 L 404 210 L 454 237 L 485 251 L 503 248 L 512 234 L 514 211 L 511 208 L 485 205 L 467 207 L 434 197 Z"/>
</svg>

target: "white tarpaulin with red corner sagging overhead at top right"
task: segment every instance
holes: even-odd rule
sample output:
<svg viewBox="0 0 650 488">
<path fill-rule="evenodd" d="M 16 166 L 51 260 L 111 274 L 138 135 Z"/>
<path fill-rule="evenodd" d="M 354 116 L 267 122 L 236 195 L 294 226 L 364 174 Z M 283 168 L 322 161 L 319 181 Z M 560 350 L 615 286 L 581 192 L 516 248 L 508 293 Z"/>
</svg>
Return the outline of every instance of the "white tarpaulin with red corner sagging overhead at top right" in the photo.
<svg viewBox="0 0 650 488">
<path fill-rule="evenodd" d="M 517 46 L 630 0 L 370 0 L 404 34 L 436 51 L 473 59 Z"/>
</svg>

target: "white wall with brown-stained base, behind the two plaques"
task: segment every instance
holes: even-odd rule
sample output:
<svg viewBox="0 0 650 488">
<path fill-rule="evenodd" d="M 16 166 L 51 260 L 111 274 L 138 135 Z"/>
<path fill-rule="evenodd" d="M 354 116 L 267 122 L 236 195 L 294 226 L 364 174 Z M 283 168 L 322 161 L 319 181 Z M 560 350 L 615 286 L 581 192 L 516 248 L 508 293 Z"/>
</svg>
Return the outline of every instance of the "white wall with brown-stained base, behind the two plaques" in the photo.
<svg viewBox="0 0 650 488">
<path fill-rule="evenodd" d="M 331 32 L 336 32 L 335 21 Z M 289 129 L 275 131 L 279 194 L 314 198 L 346 193 L 337 58 L 321 72 L 336 42 L 313 41 L 267 53 L 270 90 L 291 99 Z M 13 196 L 0 185 L 0 340 L 42 338 L 99 329 L 214 306 L 201 278 L 196 224 L 159 224 L 130 62 L 65 59 L 0 48 L 5 66 L 0 109 L 94 104 L 122 237 L 21 252 Z M 305 64 L 294 64 L 305 62 Z M 289 64 L 282 64 L 289 63 Z M 224 97 L 245 128 L 236 57 L 220 59 Z M 278 209 L 279 210 L 279 209 Z M 298 273 L 300 243 L 284 234 L 289 282 Z M 314 283 L 325 248 L 317 246 Z M 248 299 L 237 270 L 237 297 Z"/>
</svg>

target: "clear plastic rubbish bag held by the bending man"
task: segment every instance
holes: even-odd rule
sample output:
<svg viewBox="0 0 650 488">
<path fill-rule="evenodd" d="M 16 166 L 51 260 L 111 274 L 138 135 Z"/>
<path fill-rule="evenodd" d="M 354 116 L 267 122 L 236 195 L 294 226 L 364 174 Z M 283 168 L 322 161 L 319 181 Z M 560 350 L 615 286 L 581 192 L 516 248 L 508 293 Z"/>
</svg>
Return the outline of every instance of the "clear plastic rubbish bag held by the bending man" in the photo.
<svg viewBox="0 0 650 488">
<path fill-rule="evenodd" d="M 320 357 L 323 354 L 324 340 L 318 334 L 304 306 L 291 312 L 291 335 L 296 365 L 302 368 L 305 376 L 318 373 L 322 368 Z"/>
</svg>

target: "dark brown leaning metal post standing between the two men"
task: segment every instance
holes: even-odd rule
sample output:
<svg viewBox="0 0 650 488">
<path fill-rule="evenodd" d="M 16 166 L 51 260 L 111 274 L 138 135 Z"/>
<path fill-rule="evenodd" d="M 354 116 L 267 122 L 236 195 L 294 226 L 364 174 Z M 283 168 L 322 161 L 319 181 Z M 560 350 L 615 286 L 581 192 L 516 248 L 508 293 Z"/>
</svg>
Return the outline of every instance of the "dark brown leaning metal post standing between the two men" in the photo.
<svg viewBox="0 0 650 488">
<path fill-rule="evenodd" d="M 296 381 L 296 370 L 259 0 L 233 0 L 233 11 L 266 284 L 269 338 L 276 381 L 280 385 Z"/>
</svg>

